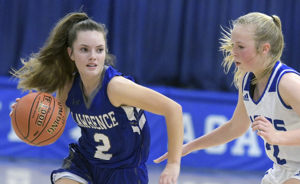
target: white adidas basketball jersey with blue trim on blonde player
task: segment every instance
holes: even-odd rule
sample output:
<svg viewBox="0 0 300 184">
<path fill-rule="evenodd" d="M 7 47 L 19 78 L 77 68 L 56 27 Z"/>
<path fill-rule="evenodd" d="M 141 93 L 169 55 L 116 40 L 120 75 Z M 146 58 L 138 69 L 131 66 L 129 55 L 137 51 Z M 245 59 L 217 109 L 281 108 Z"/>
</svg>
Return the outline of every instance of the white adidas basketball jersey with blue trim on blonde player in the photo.
<svg viewBox="0 0 300 184">
<path fill-rule="evenodd" d="M 243 79 L 243 99 L 247 114 L 253 122 L 257 116 L 265 116 L 279 131 L 291 131 L 300 128 L 300 117 L 292 107 L 282 101 L 278 84 L 281 77 L 288 72 L 300 75 L 294 69 L 281 64 L 279 61 L 273 68 L 271 76 L 264 92 L 258 101 L 254 101 L 250 95 L 250 81 L 253 73 L 248 72 Z M 262 136 L 261 136 L 262 137 Z M 286 170 L 296 170 L 300 167 L 300 146 L 277 146 L 265 142 L 265 151 L 268 157 L 277 164 L 282 165 Z"/>
</svg>

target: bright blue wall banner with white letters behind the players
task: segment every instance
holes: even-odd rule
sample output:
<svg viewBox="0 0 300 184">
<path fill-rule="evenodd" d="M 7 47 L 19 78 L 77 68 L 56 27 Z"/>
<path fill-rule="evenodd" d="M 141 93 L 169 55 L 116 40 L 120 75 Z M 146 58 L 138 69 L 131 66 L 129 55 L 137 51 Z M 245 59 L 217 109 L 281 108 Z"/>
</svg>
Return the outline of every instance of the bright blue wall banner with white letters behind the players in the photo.
<svg viewBox="0 0 300 184">
<path fill-rule="evenodd" d="M 203 92 L 187 89 L 149 86 L 181 104 L 184 120 L 184 143 L 206 134 L 228 121 L 237 103 L 237 93 Z M 22 97 L 16 83 L 9 78 L 0 78 L 0 157 L 63 159 L 68 156 L 68 144 L 80 136 L 80 129 L 72 118 L 67 119 L 61 137 L 48 146 L 30 146 L 14 133 L 9 112 L 15 99 Z M 147 112 L 146 112 L 147 113 Z M 70 117 L 70 116 L 69 116 Z M 150 156 L 147 165 L 167 151 L 167 128 L 163 116 L 147 113 L 151 130 Z M 246 134 L 227 144 L 198 150 L 182 157 L 182 167 L 245 170 L 264 172 L 272 167 L 266 156 L 263 140 L 249 128 Z"/>
</svg>

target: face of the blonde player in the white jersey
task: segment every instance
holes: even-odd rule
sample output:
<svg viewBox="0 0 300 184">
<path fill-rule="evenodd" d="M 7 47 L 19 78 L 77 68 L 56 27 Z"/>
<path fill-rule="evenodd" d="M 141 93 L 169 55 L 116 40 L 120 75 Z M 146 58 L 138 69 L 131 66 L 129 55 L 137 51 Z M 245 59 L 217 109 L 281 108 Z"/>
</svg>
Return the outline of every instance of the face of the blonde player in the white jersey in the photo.
<svg viewBox="0 0 300 184">
<path fill-rule="evenodd" d="M 260 68 L 260 55 L 256 52 L 256 45 L 253 40 L 253 27 L 251 25 L 235 25 L 231 32 L 231 42 L 233 44 L 232 56 L 234 56 L 235 66 L 241 71 L 253 73 Z"/>
</svg>

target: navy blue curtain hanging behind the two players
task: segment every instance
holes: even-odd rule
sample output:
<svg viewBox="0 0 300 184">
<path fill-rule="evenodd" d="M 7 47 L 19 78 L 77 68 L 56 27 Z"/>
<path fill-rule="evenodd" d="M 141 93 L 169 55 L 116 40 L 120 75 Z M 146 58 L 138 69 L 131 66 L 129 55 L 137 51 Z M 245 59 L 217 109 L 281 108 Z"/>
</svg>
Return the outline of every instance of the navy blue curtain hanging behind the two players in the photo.
<svg viewBox="0 0 300 184">
<path fill-rule="evenodd" d="M 221 67 L 220 26 L 254 11 L 281 18 L 282 59 L 300 71 L 298 0 L 0 0 L 0 76 L 19 68 L 56 21 L 82 5 L 107 25 L 115 68 L 141 85 L 236 92 Z"/>
</svg>

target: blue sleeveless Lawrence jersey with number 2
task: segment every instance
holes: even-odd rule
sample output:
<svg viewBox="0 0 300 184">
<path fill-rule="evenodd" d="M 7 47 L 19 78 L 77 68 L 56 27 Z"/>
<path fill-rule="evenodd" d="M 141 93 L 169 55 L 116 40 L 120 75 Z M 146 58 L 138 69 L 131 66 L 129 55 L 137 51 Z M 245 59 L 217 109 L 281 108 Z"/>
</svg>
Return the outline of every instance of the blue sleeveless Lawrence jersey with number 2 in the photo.
<svg viewBox="0 0 300 184">
<path fill-rule="evenodd" d="M 100 168 L 134 168 L 149 156 L 150 129 L 144 110 L 115 107 L 107 96 L 107 85 L 123 76 L 104 66 L 98 88 L 86 100 L 79 74 L 75 74 L 66 105 L 81 128 L 77 149 L 91 164 Z M 131 76 L 123 76 L 134 82 Z"/>
</svg>

